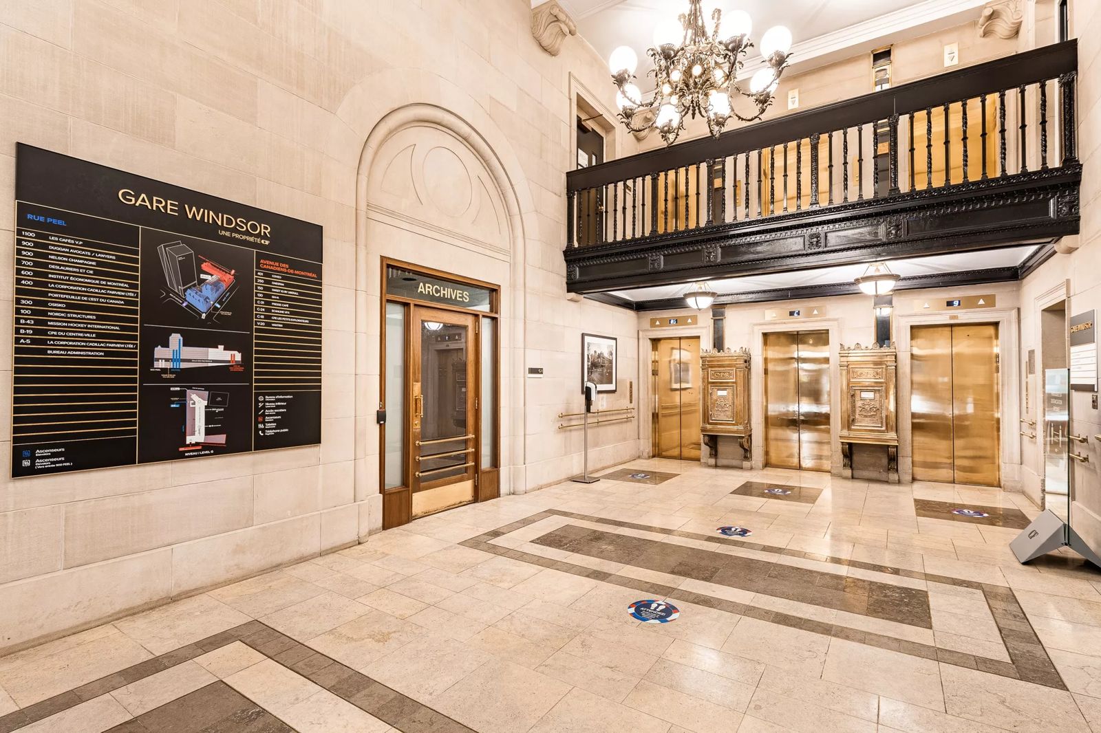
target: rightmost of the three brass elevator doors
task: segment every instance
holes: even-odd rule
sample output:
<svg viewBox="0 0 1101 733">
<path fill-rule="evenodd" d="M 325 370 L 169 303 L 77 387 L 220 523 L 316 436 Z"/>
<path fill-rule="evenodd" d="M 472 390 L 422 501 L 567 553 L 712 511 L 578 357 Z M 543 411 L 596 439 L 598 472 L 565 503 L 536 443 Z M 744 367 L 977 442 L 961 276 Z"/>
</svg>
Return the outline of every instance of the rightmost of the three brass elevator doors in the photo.
<svg viewBox="0 0 1101 733">
<path fill-rule="evenodd" d="M 911 331 L 914 479 L 1001 485 L 998 326 Z"/>
</svg>

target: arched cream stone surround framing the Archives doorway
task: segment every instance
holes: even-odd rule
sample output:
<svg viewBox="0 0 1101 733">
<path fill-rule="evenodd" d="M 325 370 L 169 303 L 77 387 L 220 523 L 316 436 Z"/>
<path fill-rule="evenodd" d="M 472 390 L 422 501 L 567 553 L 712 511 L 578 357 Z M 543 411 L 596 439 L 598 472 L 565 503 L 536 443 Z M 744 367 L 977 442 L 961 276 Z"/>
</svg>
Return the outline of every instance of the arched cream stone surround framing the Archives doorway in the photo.
<svg viewBox="0 0 1101 733">
<path fill-rule="evenodd" d="M 491 139 L 506 147 L 488 117 L 483 122 Z M 362 446 L 356 499 L 368 502 L 372 530 L 381 525 L 379 428 L 371 418 L 381 389 L 383 256 L 501 286 L 501 494 L 523 486 L 524 383 L 517 375 L 524 370 L 524 229 L 530 215 L 522 214 L 521 201 L 530 210 L 531 197 L 523 183 L 515 189 L 513 180 L 521 176 L 522 182 L 522 172 L 511 150 L 504 152 L 508 169 L 464 118 L 419 102 L 384 114 L 363 146 L 356 206 L 356 330 L 361 335 L 356 350 L 357 441 Z"/>
</svg>

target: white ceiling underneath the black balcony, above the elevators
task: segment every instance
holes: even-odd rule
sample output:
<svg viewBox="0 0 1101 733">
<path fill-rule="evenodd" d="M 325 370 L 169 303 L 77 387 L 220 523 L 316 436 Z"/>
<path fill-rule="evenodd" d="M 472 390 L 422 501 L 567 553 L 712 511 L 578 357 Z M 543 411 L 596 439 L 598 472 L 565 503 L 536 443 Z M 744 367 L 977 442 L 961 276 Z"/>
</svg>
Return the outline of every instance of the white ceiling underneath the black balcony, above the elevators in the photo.
<svg viewBox="0 0 1101 733">
<path fill-rule="evenodd" d="M 929 258 L 891 260 L 887 264 L 892 272 L 903 277 L 938 275 L 970 270 L 990 270 L 993 267 L 1014 267 L 1021 264 L 1036 247 L 1036 244 L 1024 244 L 983 252 L 959 252 L 956 254 L 938 254 Z M 818 270 L 797 270 L 767 275 L 752 275 L 749 277 L 712 280 L 708 281 L 707 284 L 719 295 L 730 295 L 733 293 L 805 287 L 808 285 L 852 283 L 855 277 L 863 275 L 866 269 L 866 264 L 840 265 Z M 634 302 L 657 300 L 679 297 L 694 287 L 693 283 L 659 285 L 657 287 L 642 287 L 633 291 L 613 291 L 612 295 Z"/>
</svg>

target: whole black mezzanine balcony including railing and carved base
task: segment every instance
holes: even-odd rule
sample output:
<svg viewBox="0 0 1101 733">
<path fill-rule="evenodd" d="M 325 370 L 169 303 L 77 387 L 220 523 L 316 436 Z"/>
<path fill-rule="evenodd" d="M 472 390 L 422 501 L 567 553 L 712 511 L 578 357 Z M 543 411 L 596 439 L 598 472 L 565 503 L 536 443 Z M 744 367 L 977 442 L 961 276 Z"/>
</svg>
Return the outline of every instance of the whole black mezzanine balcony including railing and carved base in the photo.
<svg viewBox="0 0 1101 733">
<path fill-rule="evenodd" d="M 571 293 L 1079 230 L 1076 41 L 567 175 Z"/>
</svg>

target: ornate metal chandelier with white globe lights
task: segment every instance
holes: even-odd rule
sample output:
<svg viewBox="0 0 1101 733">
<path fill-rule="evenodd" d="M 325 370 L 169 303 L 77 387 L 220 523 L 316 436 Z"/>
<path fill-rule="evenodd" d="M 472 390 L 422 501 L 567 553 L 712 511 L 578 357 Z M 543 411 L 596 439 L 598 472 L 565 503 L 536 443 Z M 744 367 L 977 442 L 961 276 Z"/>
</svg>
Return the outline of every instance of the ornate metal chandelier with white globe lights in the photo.
<svg viewBox="0 0 1101 733">
<path fill-rule="evenodd" d="M 677 20 L 658 23 L 654 45 L 646 53 L 654 63 L 651 74 L 656 83 L 653 96 L 643 100 L 633 83 L 639 57 L 630 46 L 612 52 L 608 66 L 619 92 L 615 102 L 620 119 L 631 132 L 656 128 L 666 145 L 672 145 L 685 127 L 689 114 L 707 120 L 707 128 L 719 136 L 731 117 L 742 122 L 761 119 L 773 100 L 780 76 L 787 66 L 792 48 L 792 32 L 783 25 L 768 29 L 761 39 L 765 66 L 742 89 L 738 74 L 745 65 L 752 21 L 742 10 L 723 17 L 716 8 L 711 12 L 713 30 L 708 33 L 704 21 L 702 0 L 688 0 L 688 12 Z M 733 100 L 752 101 L 750 113 L 733 109 Z M 755 110 L 753 109 L 755 108 Z"/>
</svg>

